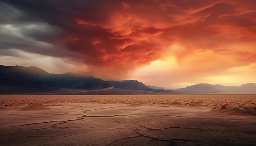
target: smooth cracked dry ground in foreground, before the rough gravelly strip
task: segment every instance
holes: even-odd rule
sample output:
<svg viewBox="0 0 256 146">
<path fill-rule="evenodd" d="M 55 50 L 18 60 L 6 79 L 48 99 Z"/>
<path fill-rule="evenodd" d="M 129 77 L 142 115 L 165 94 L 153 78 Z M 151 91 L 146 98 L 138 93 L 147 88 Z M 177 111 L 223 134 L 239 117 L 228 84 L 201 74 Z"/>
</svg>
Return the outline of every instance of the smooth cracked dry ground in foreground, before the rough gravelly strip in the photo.
<svg viewBox="0 0 256 146">
<path fill-rule="evenodd" d="M 216 113 L 206 106 L 59 101 L 12 106 L 0 111 L 0 119 L 3 146 L 256 144 L 255 115 Z"/>
</svg>

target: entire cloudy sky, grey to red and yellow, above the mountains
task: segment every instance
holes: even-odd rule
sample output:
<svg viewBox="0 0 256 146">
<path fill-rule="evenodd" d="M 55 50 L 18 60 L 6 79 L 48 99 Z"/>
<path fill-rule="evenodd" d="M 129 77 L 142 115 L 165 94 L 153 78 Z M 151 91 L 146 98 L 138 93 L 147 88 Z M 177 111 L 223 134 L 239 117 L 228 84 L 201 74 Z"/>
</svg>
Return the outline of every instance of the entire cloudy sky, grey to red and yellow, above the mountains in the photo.
<svg viewBox="0 0 256 146">
<path fill-rule="evenodd" d="M 256 82 L 256 0 L 0 0 L 0 64 L 171 89 Z"/>
</svg>

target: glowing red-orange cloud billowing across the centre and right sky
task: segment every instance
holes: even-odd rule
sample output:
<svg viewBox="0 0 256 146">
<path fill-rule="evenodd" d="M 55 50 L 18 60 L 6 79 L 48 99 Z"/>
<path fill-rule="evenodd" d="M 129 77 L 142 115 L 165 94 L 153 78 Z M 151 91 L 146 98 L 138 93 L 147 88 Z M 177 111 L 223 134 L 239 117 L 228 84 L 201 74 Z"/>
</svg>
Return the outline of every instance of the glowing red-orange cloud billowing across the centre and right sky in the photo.
<svg viewBox="0 0 256 146">
<path fill-rule="evenodd" d="M 79 54 L 94 74 L 125 75 L 170 55 L 182 62 L 204 51 L 243 64 L 256 61 L 255 0 L 93 0 L 61 2 L 58 8 L 53 7 L 58 2 L 17 3 L 60 27 L 64 31 L 60 43 Z M 170 49 L 175 44 L 182 49 Z"/>
</svg>

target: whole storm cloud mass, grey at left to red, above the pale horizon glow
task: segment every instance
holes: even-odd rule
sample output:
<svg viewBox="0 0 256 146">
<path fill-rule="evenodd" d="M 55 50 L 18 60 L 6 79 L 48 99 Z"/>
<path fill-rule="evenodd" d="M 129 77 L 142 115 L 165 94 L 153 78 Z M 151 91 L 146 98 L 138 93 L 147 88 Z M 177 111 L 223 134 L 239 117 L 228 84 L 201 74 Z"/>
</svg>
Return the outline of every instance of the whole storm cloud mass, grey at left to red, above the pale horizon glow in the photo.
<svg viewBox="0 0 256 146">
<path fill-rule="evenodd" d="M 255 41 L 254 6 L 254 0 L 2 0 L 0 49 L 125 74 L 166 58 L 175 44 L 184 47 L 171 50 L 178 61 L 197 51 L 236 54 L 234 42 Z M 252 50 L 239 51 L 249 52 L 247 64 L 256 60 Z"/>
</svg>

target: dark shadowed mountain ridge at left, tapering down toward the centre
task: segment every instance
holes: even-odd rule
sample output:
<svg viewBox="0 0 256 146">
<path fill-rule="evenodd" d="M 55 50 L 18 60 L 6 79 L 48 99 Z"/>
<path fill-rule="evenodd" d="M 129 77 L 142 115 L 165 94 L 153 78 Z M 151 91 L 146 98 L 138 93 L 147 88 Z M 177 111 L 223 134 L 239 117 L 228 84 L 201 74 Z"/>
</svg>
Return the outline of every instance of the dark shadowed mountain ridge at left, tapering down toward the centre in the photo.
<svg viewBox="0 0 256 146">
<path fill-rule="evenodd" d="M 30 93 L 55 91 L 59 89 L 96 90 L 121 88 L 153 92 L 171 92 L 149 88 L 136 80 L 104 81 L 99 78 L 75 73 L 54 74 L 36 66 L 3 66 L 0 65 L 0 93 Z"/>
</svg>

